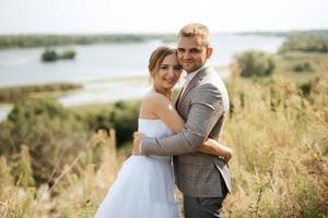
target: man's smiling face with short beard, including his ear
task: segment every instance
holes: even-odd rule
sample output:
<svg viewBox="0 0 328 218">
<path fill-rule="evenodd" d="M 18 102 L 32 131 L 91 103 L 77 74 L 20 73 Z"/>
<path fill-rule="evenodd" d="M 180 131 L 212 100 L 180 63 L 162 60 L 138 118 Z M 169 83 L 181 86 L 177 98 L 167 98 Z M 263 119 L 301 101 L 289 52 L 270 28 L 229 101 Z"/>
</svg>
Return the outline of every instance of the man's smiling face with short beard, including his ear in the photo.
<svg viewBox="0 0 328 218">
<path fill-rule="evenodd" d="M 204 45 L 197 36 L 178 38 L 178 61 L 187 73 L 200 69 L 212 55 L 212 48 Z"/>
</svg>

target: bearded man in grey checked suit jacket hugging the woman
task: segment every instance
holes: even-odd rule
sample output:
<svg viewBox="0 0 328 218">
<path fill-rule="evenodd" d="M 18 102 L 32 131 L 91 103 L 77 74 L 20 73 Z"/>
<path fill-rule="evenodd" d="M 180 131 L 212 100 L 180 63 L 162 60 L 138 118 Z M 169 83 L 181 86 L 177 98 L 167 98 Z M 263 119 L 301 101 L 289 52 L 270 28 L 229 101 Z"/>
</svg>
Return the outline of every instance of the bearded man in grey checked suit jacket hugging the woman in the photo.
<svg viewBox="0 0 328 218">
<path fill-rule="evenodd" d="M 133 150 L 141 155 L 173 155 L 186 218 L 220 217 L 222 203 L 231 192 L 227 166 L 219 157 L 197 152 L 207 137 L 219 140 L 229 108 L 226 88 L 208 63 L 213 52 L 208 27 L 197 23 L 184 26 L 178 34 L 177 52 L 188 74 L 176 102 L 186 124 L 169 137 L 134 141 Z"/>
</svg>

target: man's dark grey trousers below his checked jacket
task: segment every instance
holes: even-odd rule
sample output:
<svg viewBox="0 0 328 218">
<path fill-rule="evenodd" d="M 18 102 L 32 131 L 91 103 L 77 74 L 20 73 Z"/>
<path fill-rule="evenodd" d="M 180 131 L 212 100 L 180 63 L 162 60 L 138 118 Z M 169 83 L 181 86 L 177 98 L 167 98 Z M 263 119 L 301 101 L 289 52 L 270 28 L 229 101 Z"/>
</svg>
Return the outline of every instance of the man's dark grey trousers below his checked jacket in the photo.
<svg viewBox="0 0 328 218">
<path fill-rule="evenodd" d="M 223 197 L 191 197 L 184 195 L 186 218 L 213 218 L 222 216 Z"/>
</svg>

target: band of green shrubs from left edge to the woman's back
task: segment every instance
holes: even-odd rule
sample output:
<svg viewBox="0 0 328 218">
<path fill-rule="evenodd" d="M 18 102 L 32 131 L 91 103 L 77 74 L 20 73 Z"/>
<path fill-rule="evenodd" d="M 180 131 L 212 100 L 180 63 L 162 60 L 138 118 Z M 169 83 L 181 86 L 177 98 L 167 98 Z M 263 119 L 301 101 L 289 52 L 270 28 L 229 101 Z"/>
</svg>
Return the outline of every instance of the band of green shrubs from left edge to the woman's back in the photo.
<svg viewBox="0 0 328 218">
<path fill-rule="evenodd" d="M 118 144 L 131 141 L 138 128 L 138 112 L 139 102 L 117 102 L 106 111 L 78 116 L 52 100 L 21 100 L 8 120 L 0 123 L 0 154 L 16 162 L 26 145 L 35 182 L 51 183 L 61 173 L 63 162 L 73 162 L 87 149 L 86 138 L 99 125 L 115 129 Z"/>
</svg>

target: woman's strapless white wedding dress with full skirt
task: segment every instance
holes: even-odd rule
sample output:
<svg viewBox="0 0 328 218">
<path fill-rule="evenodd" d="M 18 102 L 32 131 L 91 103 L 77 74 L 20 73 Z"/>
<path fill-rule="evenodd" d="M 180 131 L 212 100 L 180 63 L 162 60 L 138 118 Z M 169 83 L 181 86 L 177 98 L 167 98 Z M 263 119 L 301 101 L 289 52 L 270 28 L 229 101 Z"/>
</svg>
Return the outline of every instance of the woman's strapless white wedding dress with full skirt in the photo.
<svg viewBox="0 0 328 218">
<path fill-rule="evenodd" d="M 139 132 L 162 138 L 173 132 L 160 119 L 139 119 Z M 168 156 L 131 156 L 96 211 L 96 218 L 178 218 Z"/>
</svg>

